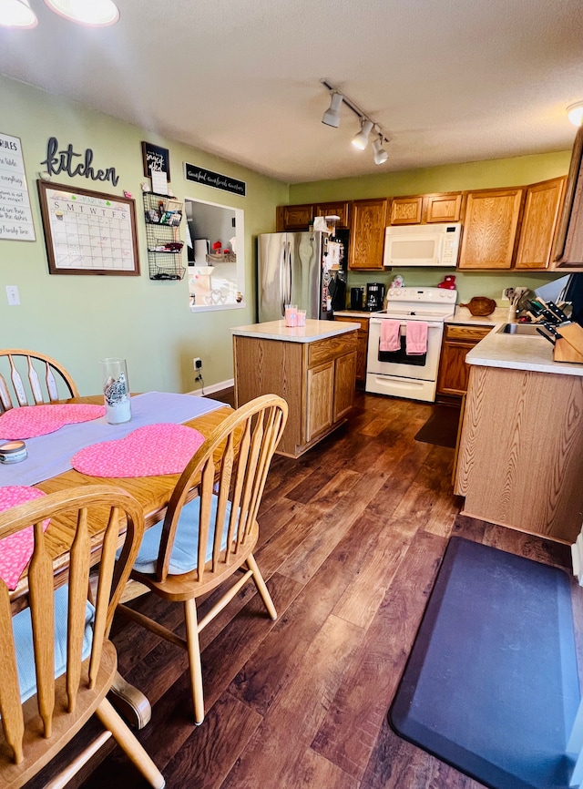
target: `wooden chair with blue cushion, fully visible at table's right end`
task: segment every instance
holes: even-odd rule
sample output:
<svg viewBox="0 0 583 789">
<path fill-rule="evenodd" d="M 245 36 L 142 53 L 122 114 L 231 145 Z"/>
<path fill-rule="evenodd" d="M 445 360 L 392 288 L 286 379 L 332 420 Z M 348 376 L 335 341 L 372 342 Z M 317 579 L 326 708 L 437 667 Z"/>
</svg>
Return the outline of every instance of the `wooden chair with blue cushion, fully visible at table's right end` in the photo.
<svg viewBox="0 0 583 789">
<path fill-rule="evenodd" d="M 118 606 L 129 619 L 188 651 L 197 724 L 204 720 L 199 632 L 249 580 L 271 619 L 277 618 L 252 551 L 259 537 L 257 511 L 287 415 L 285 400 L 262 395 L 228 416 L 179 477 L 163 523 L 144 535 L 131 578 L 183 605 L 186 639 L 127 605 Z M 187 503 L 194 485 L 199 495 Z M 237 573 L 240 578 L 227 585 Z M 196 599 L 223 584 L 220 598 L 198 620 Z"/>
</svg>

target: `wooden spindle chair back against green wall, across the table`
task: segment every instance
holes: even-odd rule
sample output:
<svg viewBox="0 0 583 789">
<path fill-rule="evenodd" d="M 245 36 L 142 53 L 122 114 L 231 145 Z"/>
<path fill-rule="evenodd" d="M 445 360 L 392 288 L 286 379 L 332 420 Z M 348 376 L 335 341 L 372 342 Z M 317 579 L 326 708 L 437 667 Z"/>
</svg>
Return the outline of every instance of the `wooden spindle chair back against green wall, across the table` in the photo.
<svg viewBox="0 0 583 789">
<path fill-rule="evenodd" d="M 50 356 L 21 348 L 5 348 L 0 349 L 0 363 L 2 362 L 5 364 L 0 366 L 0 414 L 14 408 L 13 395 L 17 405 L 41 405 L 61 399 L 59 384 L 68 392 L 66 397 L 79 396 L 73 378 L 62 364 Z M 26 391 L 23 375 L 28 380 L 29 392 Z M 41 375 L 46 391 L 43 391 Z M 12 383 L 12 394 L 7 380 Z"/>
</svg>

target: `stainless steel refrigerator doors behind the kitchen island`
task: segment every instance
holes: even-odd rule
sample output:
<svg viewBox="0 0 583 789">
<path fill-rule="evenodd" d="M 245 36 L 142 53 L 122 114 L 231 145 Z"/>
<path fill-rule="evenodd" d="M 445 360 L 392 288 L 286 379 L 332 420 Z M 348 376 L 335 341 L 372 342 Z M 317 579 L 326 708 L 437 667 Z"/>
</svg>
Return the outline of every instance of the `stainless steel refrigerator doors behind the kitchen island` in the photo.
<svg viewBox="0 0 583 789">
<path fill-rule="evenodd" d="M 279 321 L 285 304 L 320 317 L 322 233 L 263 233 L 258 237 L 257 313 Z"/>
</svg>

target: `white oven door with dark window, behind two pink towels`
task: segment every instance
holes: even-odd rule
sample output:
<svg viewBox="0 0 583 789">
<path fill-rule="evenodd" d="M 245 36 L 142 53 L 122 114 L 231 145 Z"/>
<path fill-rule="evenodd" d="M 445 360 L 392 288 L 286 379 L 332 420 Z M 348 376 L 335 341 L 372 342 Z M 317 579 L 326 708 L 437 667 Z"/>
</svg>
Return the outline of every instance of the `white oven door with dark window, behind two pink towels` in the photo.
<svg viewBox="0 0 583 789">
<path fill-rule="evenodd" d="M 387 317 L 390 318 L 390 315 Z M 387 354 L 379 350 L 383 320 L 383 318 L 371 318 L 370 321 L 367 374 L 435 381 L 439 367 L 444 324 L 438 321 L 427 323 L 427 353 L 407 355 L 404 350 L 406 322 L 401 323 L 401 351 Z"/>
</svg>

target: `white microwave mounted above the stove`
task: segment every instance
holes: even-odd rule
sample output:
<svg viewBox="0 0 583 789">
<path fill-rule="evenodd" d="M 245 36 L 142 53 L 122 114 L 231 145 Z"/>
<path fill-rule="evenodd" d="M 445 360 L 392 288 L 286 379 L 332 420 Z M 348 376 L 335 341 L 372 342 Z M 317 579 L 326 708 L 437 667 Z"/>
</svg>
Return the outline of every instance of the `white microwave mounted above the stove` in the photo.
<svg viewBox="0 0 583 789">
<path fill-rule="evenodd" d="M 428 225 L 393 225 L 384 237 L 384 265 L 455 266 L 461 222 Z"/>
</svg>

